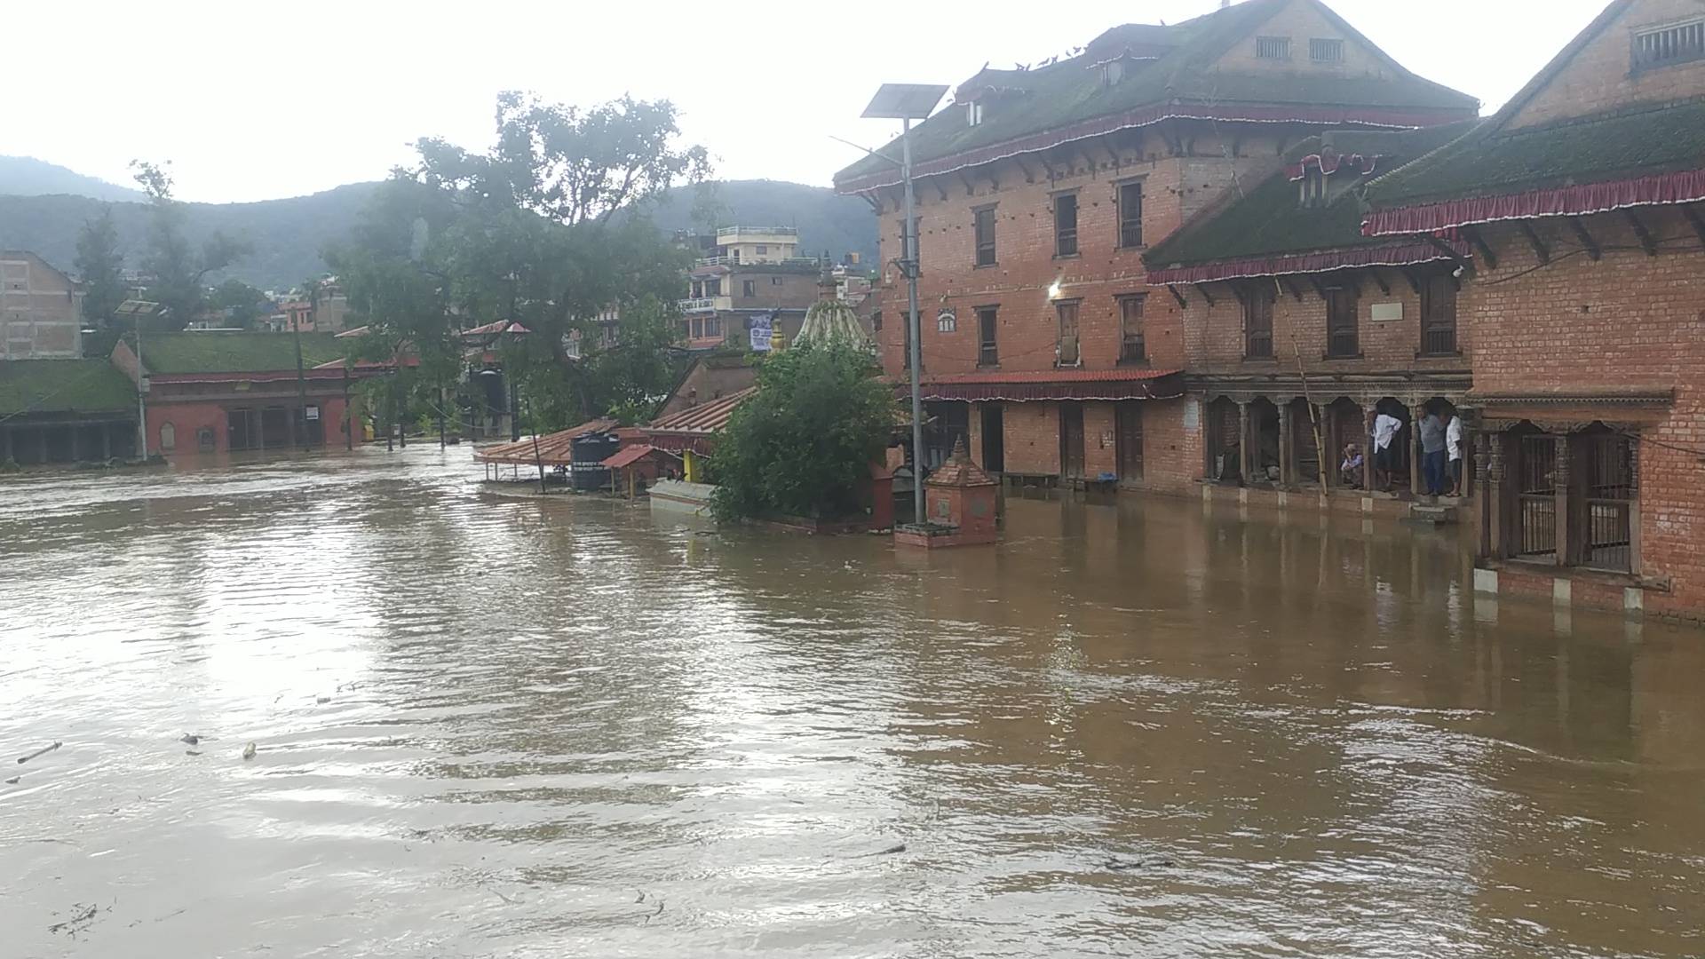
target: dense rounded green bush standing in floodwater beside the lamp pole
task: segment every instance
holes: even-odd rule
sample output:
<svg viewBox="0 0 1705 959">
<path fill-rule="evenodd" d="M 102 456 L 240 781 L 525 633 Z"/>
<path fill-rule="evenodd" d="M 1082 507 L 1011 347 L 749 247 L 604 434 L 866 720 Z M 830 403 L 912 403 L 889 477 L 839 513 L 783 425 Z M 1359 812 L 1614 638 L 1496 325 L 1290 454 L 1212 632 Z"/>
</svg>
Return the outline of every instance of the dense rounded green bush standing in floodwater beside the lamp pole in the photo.
<svg viewBox="0 0 1705 959">
<path fill-rule="evenodd" d="M 728 420 L 711 461 L 711 512 L 846 517 L 893 430 L 895 401 L 871 355 L 841 343 L 764 360 L 757 392 Z"/>
</svg>

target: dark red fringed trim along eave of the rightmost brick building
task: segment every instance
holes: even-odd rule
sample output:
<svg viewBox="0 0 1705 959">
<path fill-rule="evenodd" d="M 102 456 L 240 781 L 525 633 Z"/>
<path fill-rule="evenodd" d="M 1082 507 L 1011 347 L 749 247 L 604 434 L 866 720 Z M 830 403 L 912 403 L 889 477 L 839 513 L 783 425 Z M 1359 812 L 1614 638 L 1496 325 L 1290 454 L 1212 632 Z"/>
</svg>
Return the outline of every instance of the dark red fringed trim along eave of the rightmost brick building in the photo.
<svg viewBox="0 0 1705 959">
<path fill-rule="evenodd" d="M 1477 196 L 1448 200 L 1420 206 L 1393 206 L 1371 213 L 1362 222 L 1362 234 L 1430 234 L 1473 224 L 1497 220 L 1529 220 L 1534 217 L 1582 217 L 1608 213 L 1627 206 L 1656 206 L 1662 203 L 1695 203 L 1705 200 L 1705 169 L 1563 186 L 1558 189 L 1533 189 L 1504 196 Z"/>
</svg>

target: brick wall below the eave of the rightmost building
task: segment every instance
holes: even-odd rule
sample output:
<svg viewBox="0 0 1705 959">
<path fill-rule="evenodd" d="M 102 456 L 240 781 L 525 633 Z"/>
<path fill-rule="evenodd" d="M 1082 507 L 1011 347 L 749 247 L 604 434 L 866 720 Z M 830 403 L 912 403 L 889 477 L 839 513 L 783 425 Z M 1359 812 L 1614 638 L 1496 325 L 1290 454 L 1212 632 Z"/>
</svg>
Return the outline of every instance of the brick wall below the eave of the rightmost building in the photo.
<svg viewBox="0 0 1705 959">
<path fill-rule="evenodd" d="M 1705 607 L 1705 249 L 1681 215 L 1642 208 L 1659 239 L 1647 256 L 1620 213 L 1584 218 L 1601 261 L 1558 220 L 1536 220 L 1552 264 L 1514 227 L 1485 229 L 1499 268 L 1463 287 L 1477 392 L 1669 389 L 1667 415 L 1642 430 L 1640 558 L 1673 594 L 1647 609 Z M 1608 420 L 1616 406 L 1599 408 Z M 1662 445 L 1661 445 L 1662 444 Z M 1671 449 L 1681 447 L 1681 449 Z"/>
</svg>

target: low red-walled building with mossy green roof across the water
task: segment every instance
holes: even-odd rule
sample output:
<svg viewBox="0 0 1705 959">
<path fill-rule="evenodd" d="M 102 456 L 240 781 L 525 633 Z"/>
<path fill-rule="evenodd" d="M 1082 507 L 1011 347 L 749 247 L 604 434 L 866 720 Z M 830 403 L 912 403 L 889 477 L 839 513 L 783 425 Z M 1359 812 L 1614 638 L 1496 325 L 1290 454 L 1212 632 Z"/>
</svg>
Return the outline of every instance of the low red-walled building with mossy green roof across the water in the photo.
<svg viewBox="0 0 1705 959">
<path fill-rule="evenodd" d="M 331 334 L 302 334 L 298 392 L 295 336 L 273 333 L 147 334 L 142 365 L 119 340 L 113 363 L 147 399 L 148 452 L 191 452 L 344 445 L 350 377 L 344 350 Z M 305 399 L 303 399 L 305 394 Z"/>
</svg>

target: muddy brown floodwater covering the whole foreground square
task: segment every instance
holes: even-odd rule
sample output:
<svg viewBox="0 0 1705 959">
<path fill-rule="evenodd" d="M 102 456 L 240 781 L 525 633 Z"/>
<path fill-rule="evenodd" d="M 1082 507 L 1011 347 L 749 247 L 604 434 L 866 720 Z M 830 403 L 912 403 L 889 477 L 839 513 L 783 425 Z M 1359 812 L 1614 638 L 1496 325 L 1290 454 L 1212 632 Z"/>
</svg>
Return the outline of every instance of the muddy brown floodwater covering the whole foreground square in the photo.
<svg viewBox="0 0 1705 959">
<path fill-rule="evenodd" d="M 917 556 L 477 474 L 0 483 L 0 954 L 1705 952 L 1705 633 L 1354 520 Z"/>
</svg>

